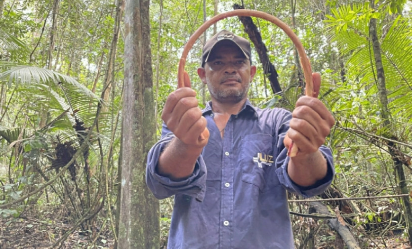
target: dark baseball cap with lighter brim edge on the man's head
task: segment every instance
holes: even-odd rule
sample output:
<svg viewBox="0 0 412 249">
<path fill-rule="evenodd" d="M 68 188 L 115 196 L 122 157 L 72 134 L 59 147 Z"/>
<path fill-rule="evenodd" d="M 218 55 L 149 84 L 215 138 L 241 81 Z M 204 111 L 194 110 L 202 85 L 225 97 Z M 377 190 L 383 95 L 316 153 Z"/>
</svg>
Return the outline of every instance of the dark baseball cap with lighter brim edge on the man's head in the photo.
<svg viewBox="0 0 412 249">
<path fill-rule="evenodd" d="M 220 43 L 221 41 L 232 41 L 239 49 L 243 52 L 244 56 L 251 61 L 251 43 L 249 40 L 235 35 L 234 33 L 223 29 L 222 31 L 216 33 L 212 38 L 206 41 L 206 44 L 203 46 L 203 53 L 202 53 L 202 63 L 201 66 L 204 66 L 204 63 L 208 61 L 210 52 L 216 46 L 216 44 Z"/>
</svg>

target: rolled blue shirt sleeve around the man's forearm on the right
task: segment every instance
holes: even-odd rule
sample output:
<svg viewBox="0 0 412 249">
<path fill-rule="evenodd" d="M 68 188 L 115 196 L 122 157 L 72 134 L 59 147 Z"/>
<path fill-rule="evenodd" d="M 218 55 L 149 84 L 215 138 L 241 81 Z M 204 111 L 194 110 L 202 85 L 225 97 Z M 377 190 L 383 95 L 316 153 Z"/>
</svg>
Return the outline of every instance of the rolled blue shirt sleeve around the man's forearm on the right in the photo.
<svg viewBox="0 0 412 249">
<path fill-rule="evenodd" d="M 302 187 L 297 185 L 292 181 L 292 179 L 289 177 L 289 174 L 287 174 L 287 164 L 289 163 L 290 157 L 286 157 L 284 160 L 282 166 L 278 169 L 276 169 L 276 174 L 279 178 L 279 182 L 290 192 L 302 195 L 305 198 L 312 197 L 318 194 L 321 194 L 323 191 L 327 189 L 329 185 L 331 185 L 334 175 L 335 175 L 335 169 L 333 167 L 333 158 L 332 158 L 332 153 L 331 150 L 328 149 L 325 146 L 321 146 L 319 150 L 322 152 L 323 156 L 326 159 L 327 163 L 327 172 L 325 178 L 321 179 L 318 181 L 316 184 L 310 186 L 310 187 Z M 283 153 L 284 151 L 282 151 Z M 284 153 L 287 153 L 284 152 Z"/>
</svg>

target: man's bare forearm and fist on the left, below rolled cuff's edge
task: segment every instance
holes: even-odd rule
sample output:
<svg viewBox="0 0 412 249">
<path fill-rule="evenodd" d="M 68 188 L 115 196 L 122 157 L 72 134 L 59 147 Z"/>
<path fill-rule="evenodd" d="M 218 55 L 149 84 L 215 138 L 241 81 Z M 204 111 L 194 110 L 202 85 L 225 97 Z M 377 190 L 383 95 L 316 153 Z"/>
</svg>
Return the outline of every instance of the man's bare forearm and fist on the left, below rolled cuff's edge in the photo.
<svg viewBox="0 0 412 249">
<path fill-rule="evenodd" d="M 209 139 L 207 121 L 198 107 L 196 92 L 189 87 L 189 76 L 185 72 L 185 87 L 168 96 L 161 115 L 176 137 L 160 154 L 157 172 L 172 180 L 181 180 L 193 173 L 196 160 Z"/>
</svg>

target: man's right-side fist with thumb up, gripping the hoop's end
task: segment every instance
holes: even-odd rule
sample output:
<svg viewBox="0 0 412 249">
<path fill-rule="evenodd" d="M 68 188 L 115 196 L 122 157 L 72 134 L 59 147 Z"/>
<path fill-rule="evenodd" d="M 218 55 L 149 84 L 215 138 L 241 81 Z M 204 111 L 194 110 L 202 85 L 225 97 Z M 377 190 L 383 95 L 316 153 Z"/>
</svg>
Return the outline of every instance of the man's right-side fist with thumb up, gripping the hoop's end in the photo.
<svg viewBox="0 0 412 249">
<path fill-rule="evenodd" d="M 284 139 L 286 148 L 291 146 L 292 141 L 298 146 L 298 154 L 316 152 L 325 142 L 325 138 L 331 132 L 335 124 L 332 113 L 317 99 L 320 89 L 320 75 L 313 73 L 314 96 L 303 96 L 296 102 L 295 110 L 292 112 L 290 129 Z"/>
</svg>

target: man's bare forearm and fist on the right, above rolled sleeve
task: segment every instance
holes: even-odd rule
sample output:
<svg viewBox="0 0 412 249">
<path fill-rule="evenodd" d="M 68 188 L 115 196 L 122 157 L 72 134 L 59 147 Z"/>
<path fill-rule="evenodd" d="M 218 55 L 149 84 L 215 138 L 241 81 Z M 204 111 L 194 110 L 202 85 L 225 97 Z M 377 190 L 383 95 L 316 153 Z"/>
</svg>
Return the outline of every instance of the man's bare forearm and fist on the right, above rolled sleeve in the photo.
<svg viewBox="0 0 412 249">
<path fill-rule="evenodd" d="M 332 113 L 317 99 L 320 75 L 313 73 L 312 77 L 315 96 L 304 96 L 296 102 L 290 129 L 284 139 L 287 148 L 291 140 L 299 148 L 298 154 L 289 161 L 287 173 L 300 186 L 311 186 L 326 176 L 327 164 L 319 147 L 335 124 Z"/>
</svg>

